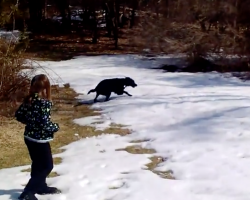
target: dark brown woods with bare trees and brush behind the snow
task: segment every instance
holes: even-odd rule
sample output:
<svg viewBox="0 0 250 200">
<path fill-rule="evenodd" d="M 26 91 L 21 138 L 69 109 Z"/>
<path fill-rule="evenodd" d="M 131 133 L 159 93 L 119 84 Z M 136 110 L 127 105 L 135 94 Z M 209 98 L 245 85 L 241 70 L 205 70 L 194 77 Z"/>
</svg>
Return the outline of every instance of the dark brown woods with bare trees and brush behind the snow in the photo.
<svg viewBox="0 0 250 200">
<path fill-rule="evenodd" d="M 93 43 L 105 30 L 118 47 L 119 30 L 131 29 L 131 42 L 166 53 L 248 55 L 249 13 L 250 0 L 0 0 L 7 30 L 89 30 Z"/>
</svg>

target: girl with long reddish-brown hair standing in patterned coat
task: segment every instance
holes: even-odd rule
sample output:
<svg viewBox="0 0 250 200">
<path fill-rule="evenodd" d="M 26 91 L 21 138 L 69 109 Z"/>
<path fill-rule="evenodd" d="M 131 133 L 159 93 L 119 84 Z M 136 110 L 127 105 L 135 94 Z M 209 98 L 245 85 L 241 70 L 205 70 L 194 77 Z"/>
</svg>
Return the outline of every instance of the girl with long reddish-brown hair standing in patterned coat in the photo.
<svg viewBox="0 0 250 200">
<path fill-rule="evenodd" d="M 29 95 L 15 113 L 17 121 L 25 124 L 24 141 L 28 148 L 31 164 L 31 178 L 20 200 L 37 200 L 35 194 L 56 194 L 60 190 L 48 187 L 46 177 L 53 169 L 50 141 L 59 130 L 57 123 L 50 121 L 51 86 L 46 75 L 36 75 L 30 86 Z"/>
</svg>

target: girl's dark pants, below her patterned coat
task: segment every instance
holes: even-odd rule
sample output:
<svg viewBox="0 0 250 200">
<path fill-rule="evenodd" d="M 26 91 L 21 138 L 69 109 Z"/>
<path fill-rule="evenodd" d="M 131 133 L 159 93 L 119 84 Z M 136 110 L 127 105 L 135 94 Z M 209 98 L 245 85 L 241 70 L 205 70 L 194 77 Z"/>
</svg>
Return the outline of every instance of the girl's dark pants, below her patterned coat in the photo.
<svg viewBox="0 0 250 200">
<path fill-rule="evenodd" d="M 47 187 L 46 177 L 53 169 L 50 143 L 37 143 L 27 139 L 24 141 L 32 160 L 31 178 L 24 190 L 35 194 Z"/>
</svg>

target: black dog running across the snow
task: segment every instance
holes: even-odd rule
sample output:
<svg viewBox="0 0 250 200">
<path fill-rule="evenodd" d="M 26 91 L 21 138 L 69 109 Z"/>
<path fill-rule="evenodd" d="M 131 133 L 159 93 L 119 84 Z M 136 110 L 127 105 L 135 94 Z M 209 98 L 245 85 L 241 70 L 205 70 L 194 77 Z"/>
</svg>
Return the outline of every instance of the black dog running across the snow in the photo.
<svg viewBox="0 0 250 200">
<path fill-rule="evenodd" d="M 106 96 L 105 101 L 108 101 L 112 92 L 116 93 L 117 95 L 122 95 L 125 93 L 128 96 L 132 96 L 128 92 L 124 91 L 125 87 L 127 86 L 131 86 L 134 88 L 137 86 L 137 84 L 133 79 L 129 77 L 104 79 L 95 87 L 95 89 L 90 90 L 88 94 L 91 92 L 96 92 L 94 102 L 97 101 L 99 95 Z"/>
</svg>

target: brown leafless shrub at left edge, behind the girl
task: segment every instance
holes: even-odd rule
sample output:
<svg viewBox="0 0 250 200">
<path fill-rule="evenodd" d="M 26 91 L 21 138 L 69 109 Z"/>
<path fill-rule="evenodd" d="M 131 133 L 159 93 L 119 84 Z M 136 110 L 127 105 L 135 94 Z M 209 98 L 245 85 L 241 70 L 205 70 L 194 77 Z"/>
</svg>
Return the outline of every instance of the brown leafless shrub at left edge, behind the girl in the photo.
<svg viewBox="0 0 250 200">
<path fill-rule="evenodd" d="M 29 72 L 22 72 L 27 66 L 24 52 L 27 47 L 25 40 L 13 43 L 0 39 L 0 102 L 17 103 L 27 94 Z"/>
</svg>

